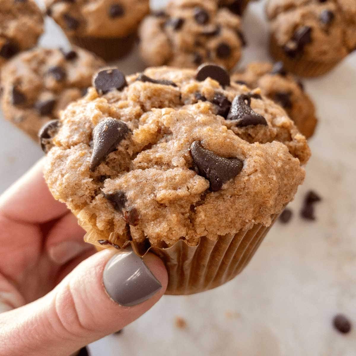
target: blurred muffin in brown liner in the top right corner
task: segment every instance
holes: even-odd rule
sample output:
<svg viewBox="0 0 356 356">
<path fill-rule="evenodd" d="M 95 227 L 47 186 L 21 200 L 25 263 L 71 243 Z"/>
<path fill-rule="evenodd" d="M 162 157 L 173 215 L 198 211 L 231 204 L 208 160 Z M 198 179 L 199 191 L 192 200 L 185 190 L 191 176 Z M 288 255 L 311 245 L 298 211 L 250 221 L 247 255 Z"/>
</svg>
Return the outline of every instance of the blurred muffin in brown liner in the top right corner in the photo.
<svg viewBox="0 0 356 356">
<path fill-rule="evenodd" d="M 355 0 L 269 0 L 271 53 L 305 77 L 329 72 L 356 48 Z"/>
</svg>

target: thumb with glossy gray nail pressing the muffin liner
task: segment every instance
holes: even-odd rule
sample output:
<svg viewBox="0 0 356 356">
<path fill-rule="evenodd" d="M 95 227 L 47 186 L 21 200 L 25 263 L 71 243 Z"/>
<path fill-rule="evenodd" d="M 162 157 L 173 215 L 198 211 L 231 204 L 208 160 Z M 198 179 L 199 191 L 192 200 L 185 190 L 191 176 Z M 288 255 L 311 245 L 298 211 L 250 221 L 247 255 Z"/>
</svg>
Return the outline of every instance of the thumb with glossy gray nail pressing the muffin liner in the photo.
<svg viewBox="0 0 356 356">
<path fill-rule="evenodd" d="M 167 280 L 155 255 L 98 252 L 45 297 L 0 314 L 0 356 L 68 356 L 145 313 Z"/>
</svg>

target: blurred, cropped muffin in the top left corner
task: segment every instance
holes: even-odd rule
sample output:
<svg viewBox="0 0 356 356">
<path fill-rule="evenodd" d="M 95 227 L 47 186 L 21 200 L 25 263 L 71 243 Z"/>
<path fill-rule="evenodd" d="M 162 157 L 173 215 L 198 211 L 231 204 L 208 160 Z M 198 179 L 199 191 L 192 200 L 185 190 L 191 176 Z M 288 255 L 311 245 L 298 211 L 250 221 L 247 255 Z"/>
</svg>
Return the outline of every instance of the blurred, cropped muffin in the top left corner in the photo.
<svg viewBox="0 0 356 356">
<path fill-rule="evenodd" d="M 0 67 L 36 46 L 42 32 L 43 17 L 35 1 L 0 0 Z"/>
</svg>

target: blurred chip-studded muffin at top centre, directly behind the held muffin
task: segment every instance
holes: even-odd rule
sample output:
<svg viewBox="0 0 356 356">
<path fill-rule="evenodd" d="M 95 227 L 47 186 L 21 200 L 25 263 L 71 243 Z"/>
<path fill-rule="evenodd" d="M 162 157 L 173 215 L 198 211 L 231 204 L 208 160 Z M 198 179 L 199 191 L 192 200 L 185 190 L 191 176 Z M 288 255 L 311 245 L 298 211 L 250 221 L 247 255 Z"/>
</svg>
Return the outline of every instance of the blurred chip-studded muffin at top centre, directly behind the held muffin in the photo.
<svg viewBox="0 0 356 356">
<path fill-rule="evenodd" d="M 214 62 L 231 69 L 245 45 L 240 17 L 211 0 L 174 0 L 142 22 L 140 52 L 151 66 L 196 68 Z"/>
</svg>

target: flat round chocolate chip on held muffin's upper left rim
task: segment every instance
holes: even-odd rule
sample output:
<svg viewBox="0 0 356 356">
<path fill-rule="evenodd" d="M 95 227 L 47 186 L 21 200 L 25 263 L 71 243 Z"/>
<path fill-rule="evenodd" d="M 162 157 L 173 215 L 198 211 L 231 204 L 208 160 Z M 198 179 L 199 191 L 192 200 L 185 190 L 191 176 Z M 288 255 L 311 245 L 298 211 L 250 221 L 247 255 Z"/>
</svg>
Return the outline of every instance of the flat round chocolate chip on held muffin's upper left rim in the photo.
<svg viewBox="0 0 356 356">
<path fill-rule="evenodd" d="M 119 69 L 104 69 L 94 77 L 94 87 L 99 94 L 106 94 L 110 90 L 121 90 L 127 86 L 124 73 Z"/>
</svg>

